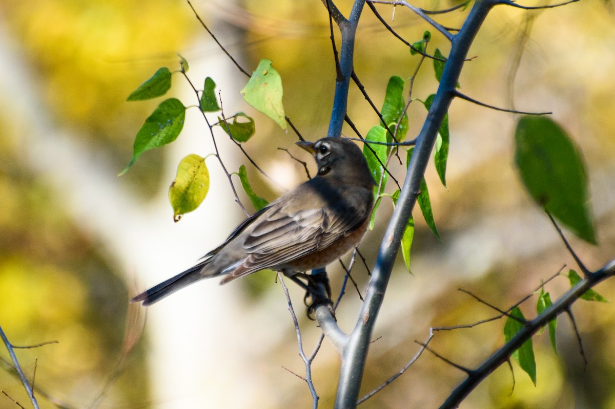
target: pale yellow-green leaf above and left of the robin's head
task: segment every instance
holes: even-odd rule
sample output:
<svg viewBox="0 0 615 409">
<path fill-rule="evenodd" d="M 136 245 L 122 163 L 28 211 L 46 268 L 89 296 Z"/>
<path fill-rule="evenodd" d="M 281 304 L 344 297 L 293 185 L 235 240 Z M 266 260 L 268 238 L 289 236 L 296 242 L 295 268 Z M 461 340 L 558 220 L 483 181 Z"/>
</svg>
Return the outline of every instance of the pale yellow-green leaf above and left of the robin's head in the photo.
<svg viewBox="0 0 615 409">
<path fill-rule="evenodd" d="M 245 102 L 286 130 L 286 117 L 282 106 L 282 79 L 271 64 L 271 60 L 263 58 L 240 93 Z"/>
</svg>

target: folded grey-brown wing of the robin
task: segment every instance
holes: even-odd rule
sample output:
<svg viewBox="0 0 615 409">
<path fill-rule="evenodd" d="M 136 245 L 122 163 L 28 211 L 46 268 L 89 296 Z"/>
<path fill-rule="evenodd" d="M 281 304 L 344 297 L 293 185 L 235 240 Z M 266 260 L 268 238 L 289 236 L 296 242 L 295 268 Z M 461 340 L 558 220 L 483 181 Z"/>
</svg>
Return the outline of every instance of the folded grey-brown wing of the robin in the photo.
<svg viewBox="0 0 615 409">
<path fill-rule="evenodd" d="M 244 241 L 248 258 L 224 281 L 284 265 L 341 240 L 370 216 L 372 194 L 368 189 L 349 187 L 343 199 L 329 200 L 318 208 L 279 201 L 255 222 Z"/>
</svg>

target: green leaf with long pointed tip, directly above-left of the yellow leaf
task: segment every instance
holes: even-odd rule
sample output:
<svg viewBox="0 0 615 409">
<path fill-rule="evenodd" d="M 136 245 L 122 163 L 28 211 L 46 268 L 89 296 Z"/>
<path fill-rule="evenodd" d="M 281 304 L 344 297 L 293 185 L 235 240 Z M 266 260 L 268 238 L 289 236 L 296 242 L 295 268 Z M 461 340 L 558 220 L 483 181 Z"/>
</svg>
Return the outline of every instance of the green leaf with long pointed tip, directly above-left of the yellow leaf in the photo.
<svg viewBox="0 0 615 409">
<path fill-rule="evenodd" d="M 165 146 L 177 139 L 184 126 L 186 107 L 177 98 L 165 99 L 141 126 L 135 136 L 132 160 L 120 176 L 137 162 L 146 150 Z"/>
</svg>

